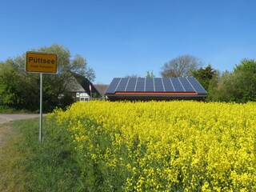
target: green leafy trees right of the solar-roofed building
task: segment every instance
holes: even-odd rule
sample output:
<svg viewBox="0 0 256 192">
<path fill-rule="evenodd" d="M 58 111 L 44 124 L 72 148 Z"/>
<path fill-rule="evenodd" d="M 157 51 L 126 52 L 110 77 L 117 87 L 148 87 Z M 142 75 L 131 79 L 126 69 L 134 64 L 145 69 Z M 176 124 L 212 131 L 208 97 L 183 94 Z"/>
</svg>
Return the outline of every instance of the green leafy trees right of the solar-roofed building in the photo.
<svg viewBox="0 0 256 192">
<path fill-rule="evenodd" d="M 207 101 L 255 102 L 256 61 L 244 58 L 232 71 L 220 73 L 210 65 L 194 70 L 193 75 L 207 90 Z"/>
</svg>

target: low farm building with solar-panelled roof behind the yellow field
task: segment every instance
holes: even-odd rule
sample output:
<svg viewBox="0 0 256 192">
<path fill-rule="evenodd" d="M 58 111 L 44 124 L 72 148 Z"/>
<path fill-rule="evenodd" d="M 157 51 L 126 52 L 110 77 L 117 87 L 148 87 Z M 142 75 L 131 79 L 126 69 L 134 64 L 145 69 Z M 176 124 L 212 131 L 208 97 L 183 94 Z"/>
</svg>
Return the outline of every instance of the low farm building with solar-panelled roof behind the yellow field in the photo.
<svg viewBox="0 0 256 192">
<path fill-rule="evenodd" d="M 207 92 L 196 78 L 114 78 L 105 94 L 110 101 L 204 101 Z"/>
</svg>

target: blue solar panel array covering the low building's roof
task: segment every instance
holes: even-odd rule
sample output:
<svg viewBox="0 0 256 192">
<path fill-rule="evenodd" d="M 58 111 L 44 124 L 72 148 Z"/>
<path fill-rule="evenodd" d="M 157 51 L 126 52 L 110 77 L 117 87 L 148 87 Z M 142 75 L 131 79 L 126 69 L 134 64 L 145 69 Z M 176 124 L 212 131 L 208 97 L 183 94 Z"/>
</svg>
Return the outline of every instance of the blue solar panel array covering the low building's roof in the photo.
<svg viewBox="0 0 256 192">
<path fill-rule="evenodd" d="M 116 92 L 163 92 L 207 94 L 195 78 L 114 78 L 106 94 Z"/>
</svg>

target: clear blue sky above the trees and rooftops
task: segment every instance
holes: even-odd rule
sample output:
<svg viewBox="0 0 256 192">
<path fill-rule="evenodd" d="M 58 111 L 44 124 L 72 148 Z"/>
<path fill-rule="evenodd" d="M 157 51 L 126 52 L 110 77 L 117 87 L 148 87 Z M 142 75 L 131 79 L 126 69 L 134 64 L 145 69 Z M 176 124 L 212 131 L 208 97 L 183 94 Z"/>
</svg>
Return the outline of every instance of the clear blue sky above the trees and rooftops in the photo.
<svg viewBox="0 0 256 192">
<path fill-rule="evenodd" d="M 182 54 L 233 70 L 256 55 L 254 0 L 2 0 L 0 61 L 58 43 L 81 54 L 94 83 L 141 77 Z"/>
</svg>

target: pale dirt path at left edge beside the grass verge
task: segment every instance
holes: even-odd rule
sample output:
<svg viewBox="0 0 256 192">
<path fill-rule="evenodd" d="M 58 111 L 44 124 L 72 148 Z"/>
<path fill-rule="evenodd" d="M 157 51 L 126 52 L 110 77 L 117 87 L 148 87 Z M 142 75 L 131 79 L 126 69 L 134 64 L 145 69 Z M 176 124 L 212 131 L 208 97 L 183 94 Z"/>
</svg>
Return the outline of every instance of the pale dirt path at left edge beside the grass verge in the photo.
<svg viewBox="0 0 256 192">
<path fill-rule="evenodd" d="M 0 149 L 14 134 L 10 122 L 28 118 L 39 118 L 39 114 L 0 114 Z"/>
</svg>

